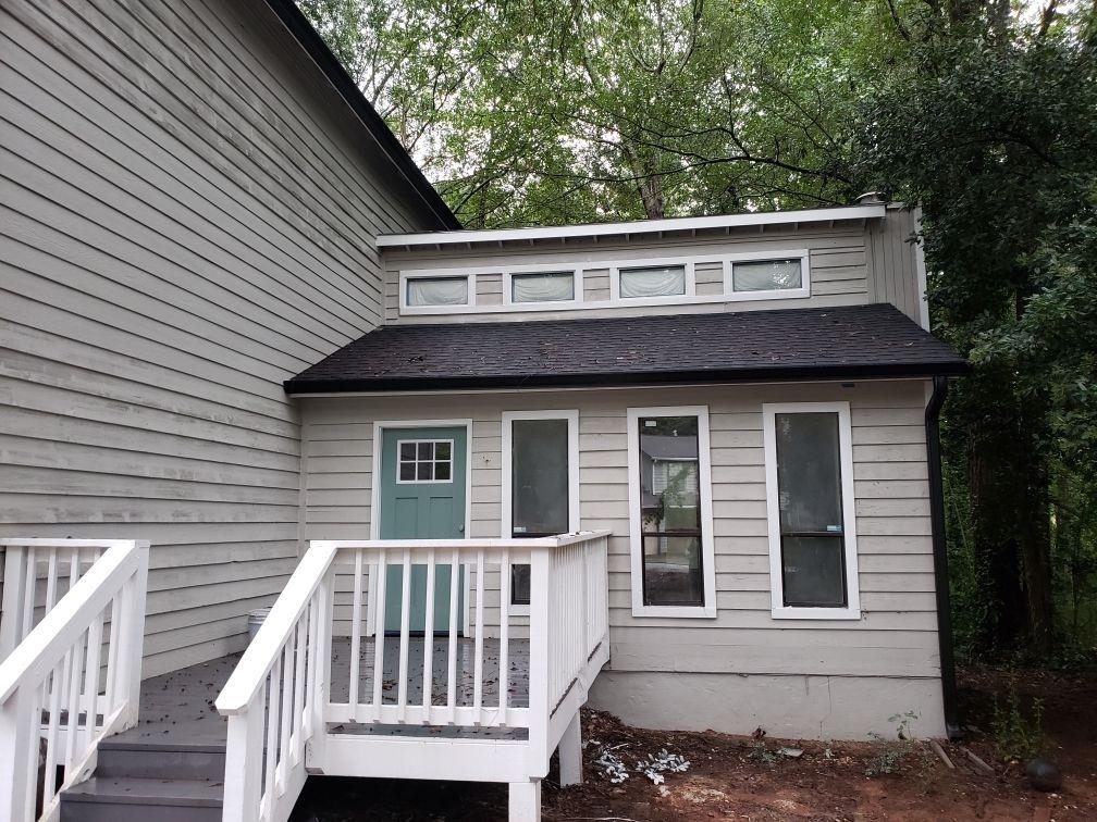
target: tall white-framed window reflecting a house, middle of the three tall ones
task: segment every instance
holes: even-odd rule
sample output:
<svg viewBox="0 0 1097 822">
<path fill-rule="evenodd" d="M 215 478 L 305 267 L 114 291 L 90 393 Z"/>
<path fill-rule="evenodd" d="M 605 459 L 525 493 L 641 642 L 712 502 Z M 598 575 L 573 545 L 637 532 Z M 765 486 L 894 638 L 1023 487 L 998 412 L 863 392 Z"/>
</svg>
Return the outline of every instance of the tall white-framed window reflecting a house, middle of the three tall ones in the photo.
<svg viewBox="0 0 1097 822">
<path fill-rule="evenodd" d="M 716 616 L 706 406 L 630 408 L 632 614 Z"/>
</svg>

